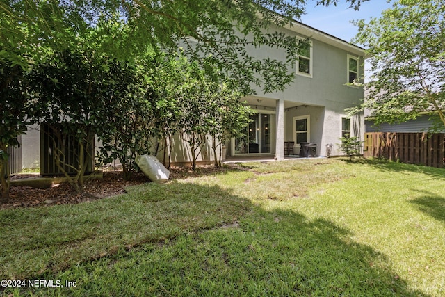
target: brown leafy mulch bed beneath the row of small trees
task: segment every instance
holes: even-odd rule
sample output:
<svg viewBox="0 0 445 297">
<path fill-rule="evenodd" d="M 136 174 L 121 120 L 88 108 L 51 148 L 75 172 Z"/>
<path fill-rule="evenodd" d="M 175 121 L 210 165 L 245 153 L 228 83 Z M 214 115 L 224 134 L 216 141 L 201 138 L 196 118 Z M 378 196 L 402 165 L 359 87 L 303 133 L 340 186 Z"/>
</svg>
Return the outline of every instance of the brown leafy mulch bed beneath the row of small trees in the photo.
<svg viewBox="0 0 445 297">
<path fill-rule="evenodd" d="M 170 168 L 170 180 L 184 179 L 186 177 L 208 175 L 223 172 L 227 168 L 203 166 L 193 172 L 190 168 Z M 35 175 L 15 175 L 12 179 L 35 177 Z M 51 188 L 31 188 L 29 186 L 10 186 L 10 199 L 8 203 L 0 204 L 0 209 L 17 207 L 48 207 L 57 204 L 76 204 L 92 200 L 112 197 L 126 193 L 127 186 L 144 184 L 150 180 L 141 172 L 136 172 L 133 178 L 126 181 L 119 170 L 105 171 L 102 179 L 91 179 L 86 183 L 86 193 L 76 193 L 67 183 L 56 184 Z"/>
</svg>

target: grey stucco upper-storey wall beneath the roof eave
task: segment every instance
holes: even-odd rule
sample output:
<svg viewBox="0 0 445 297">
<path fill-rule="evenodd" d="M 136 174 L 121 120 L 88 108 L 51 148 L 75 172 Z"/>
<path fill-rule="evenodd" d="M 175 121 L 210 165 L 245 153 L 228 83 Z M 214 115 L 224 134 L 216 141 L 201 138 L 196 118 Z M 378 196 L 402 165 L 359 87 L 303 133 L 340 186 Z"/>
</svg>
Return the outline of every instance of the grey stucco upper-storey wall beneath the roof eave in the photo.
<svg viewBox="0 0 445 297">
<path fill-rule="evenodd" d="M 304 33 L 308 35 L 299 33 L 299 29 L 300 26 L 293 26 L 291 29 L 270 29 L 270 31 L 277 30 L 292 36 L 309 38 L 312 44 L 310 61 L 305 61 L 309 64 L 309 73 L 300 72 L 297 62 L 289 69 L 289 72 L 296 73 L 296 79 L 286 86 L 284 92 L 264 94 L 260 88 L 256 88 L 257 94 L 317 106 L 330 105 L 327 102 L 346 107 L 351 104 L 359 104 L 359 101 L 364 97 L 363 87 L 348 86 L 347 83 L 351 75 L 357 77 L 357 81 L 362 82 L 360 79 L 364 77 L 364 51 L 343 40 L 323 35 L 314 29 L 312 29 L 313 32 L 305 29 Z M 312 35 L 310 35 L 311 33 Z M 316 39 L 321 35 L 321 39 L 325 40 Z M 256 58 L 269 57 L 278 61 L 285 59 L 284 51 L 270 47 L 250 47 L 248 51 Z"/>
</svg>

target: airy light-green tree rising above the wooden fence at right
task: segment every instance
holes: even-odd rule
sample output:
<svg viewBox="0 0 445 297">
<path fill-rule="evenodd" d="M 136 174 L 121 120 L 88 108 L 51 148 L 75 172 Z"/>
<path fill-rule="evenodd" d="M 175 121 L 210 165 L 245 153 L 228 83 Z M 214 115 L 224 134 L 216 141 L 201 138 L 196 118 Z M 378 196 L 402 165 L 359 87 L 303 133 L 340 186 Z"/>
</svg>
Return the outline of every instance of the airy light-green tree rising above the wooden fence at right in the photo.
<svg viewBox="0 0 445 297">
<path fill-rule="evenodd" d="M 430 111 L 445 127 L 445 3 L 401 0 L 382 17 L 357 22 L 355 42 L 371 63 L 369 95 L 375 124 L 403 122 Z"/>
</svg>

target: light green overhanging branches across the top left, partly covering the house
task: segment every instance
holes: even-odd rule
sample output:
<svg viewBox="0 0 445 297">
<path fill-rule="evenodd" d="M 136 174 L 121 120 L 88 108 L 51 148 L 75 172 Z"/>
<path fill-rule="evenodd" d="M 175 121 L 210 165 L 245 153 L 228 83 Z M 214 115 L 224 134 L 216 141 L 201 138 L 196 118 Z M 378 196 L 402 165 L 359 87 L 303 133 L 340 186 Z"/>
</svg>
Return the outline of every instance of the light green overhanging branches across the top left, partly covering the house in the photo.
<svg viewBox="0 0 445 297">
<path fill-rule="evenodd" d="M 317 1 L 325 5 L 338 0 Z M 357 5 L 360 0 L 345 0 Z M 125 61 L 140 56 L 147 45 L 176 52 L 184 47 L 192 61 L 218 65 L 243 82 L 266 92 L 282 90 L 294 77 L 295 37 L 270 29 L 284 26 L 304 13 L 305 0 L 76 0 L 2 1 L 0 40 L 8 55 L 25 63 L 25 51 L 38 59 L 42 49 L 67 49 L 75 36 L 95 28 L 100 19 L 117 20 L 122 31 L 104 29 L 95 51 Z M 74 34 L 73 34 L 74 33 Z M 16 38 L 17 37 L 17 38 Z M 195 40 L 197 42 L 194 42 Z M 20 46 L 18 46 L 20 45 Z M 42 45 L 44 47 L 42 47 Z M 250 56 L 246 47 L 274 47 L 286 53 L 284 61 Z M 17 49 L 19 49 L 17 51 Z M 12 54 L 14 53 L 14 54 Z M 203 64 L 204 65 L 204 64 Z"/>
</svg>

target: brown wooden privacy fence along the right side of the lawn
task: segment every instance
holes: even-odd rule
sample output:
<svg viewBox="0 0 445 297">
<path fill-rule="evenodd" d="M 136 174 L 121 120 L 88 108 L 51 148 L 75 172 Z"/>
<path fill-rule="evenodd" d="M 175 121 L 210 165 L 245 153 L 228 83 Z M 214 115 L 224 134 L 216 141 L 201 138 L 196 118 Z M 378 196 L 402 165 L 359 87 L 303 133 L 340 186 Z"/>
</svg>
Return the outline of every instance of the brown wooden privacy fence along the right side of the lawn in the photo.
<svg viewBox="0 0 445 297">
<path fill-rule="evenodd" d="M 445 168 L 445 134 L 366 133 L 364 156 Z"/>
</svg>

